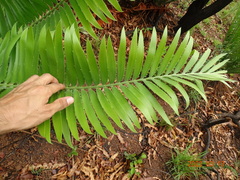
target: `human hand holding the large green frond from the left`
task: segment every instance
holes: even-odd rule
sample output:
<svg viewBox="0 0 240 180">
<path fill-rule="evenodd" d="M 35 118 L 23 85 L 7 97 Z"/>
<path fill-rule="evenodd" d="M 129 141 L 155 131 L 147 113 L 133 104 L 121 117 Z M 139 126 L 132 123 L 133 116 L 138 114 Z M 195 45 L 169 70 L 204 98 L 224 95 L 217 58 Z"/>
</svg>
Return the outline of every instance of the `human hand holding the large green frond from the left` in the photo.
<svg viewBox="0 0 240 180">
<path fill-rule="evenodd" d="M 29 129 L 41 124 L 74 102 L 63 97 L 48 104 L 49 98 L 65 86 L 50 74 L 34 75 L 0 99 L 0 134 Z"/>
</svg>

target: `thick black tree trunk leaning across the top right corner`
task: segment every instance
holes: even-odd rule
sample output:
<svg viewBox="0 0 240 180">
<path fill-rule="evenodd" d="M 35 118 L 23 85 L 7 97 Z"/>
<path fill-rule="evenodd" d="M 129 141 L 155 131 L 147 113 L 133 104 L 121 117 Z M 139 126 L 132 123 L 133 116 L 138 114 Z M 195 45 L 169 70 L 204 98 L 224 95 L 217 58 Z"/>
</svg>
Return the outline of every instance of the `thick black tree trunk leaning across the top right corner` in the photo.
<svg viewBox="0 0 240 180">
<path fill-rule="evenodd" d="M 184 33 L 202 20 L 216 14 L 226 7 L 233 0 L 216 0 L 211 5 L 204 8 L 209 0 L 195 0 L 188 8 L 187 13 L 179 20 L 178 26 L 174 27 L 176 32 L 181 28 Z"/>
</svg>

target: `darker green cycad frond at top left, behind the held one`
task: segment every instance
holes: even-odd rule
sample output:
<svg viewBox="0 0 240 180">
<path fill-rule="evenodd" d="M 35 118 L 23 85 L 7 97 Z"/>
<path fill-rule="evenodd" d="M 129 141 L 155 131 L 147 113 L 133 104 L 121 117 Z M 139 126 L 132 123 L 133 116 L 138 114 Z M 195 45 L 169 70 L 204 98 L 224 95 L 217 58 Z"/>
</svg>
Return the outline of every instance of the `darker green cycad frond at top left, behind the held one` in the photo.
<svg viewBox="0 0 240 180">
<path fill-rule="evenodd" d="M 117 0 L 108 0 L 118 11 L 121 7 Z M 94 15 L 93 15 L 94 14 Z M 101 29 L 96 17 L 107 22 L 114 17 L 103 0 L 1 0 L 0 1 L 0 37 L 4 36 L 15 23 L 35 26 L 38 32 L 46 25 L 52 30 L 61 20 L 64 27 L 69 27 L 78 19 L 83 28 L 94 38 L 92 26 Z"/>
</svg>

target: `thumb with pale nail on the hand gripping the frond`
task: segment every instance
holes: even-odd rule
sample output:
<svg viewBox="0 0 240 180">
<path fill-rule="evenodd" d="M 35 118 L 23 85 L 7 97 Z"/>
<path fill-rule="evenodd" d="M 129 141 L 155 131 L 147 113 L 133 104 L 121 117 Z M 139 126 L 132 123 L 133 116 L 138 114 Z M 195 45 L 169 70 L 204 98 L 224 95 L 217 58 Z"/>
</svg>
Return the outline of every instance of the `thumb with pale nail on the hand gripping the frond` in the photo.
<svg viewBox="0 0 240 180">
<path fill-rule="evenodd" d="M 47 111 L 50 113 L 49 117 L 53 116 L 56 112 L 61 111 L 71 105 L 74 102 L 73 97 L 67 96 L 67 97 L 62 97 L 51 104 L 47 104 L 45 107 Z"/>
</svg>

